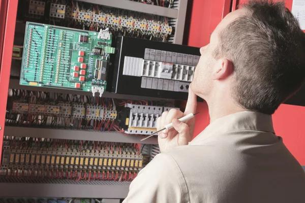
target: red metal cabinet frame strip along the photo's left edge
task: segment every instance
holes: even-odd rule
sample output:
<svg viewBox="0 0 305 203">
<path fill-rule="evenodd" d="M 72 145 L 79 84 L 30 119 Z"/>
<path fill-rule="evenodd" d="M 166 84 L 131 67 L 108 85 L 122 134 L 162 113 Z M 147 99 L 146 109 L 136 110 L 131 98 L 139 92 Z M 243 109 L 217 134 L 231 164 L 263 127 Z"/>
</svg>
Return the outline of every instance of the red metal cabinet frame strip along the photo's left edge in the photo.
<svg viewBox="0 0 305 203">
<path fill-rule="evenodd" d="M 1 0 L 0 5 L 0 126 L 2 127 L 0 130 L 1 162 L 18 1 Z"/>
</svg>

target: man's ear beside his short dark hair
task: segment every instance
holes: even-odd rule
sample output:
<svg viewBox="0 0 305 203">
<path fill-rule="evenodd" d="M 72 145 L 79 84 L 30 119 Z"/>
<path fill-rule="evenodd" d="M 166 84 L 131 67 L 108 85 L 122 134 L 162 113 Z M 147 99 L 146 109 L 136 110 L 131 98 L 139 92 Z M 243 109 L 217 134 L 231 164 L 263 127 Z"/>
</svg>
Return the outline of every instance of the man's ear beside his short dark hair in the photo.
<svg viewBox="0 0 305 203">
<path fill-rule="evenodd" d="M 212 74 L 213 80 L 226 79 L 227 77 L 233 74 L 234 66 L 229 59 L 227 58 L 220 59 L 216 65 L 217 65 L 216 69 Z"/>
</svg>

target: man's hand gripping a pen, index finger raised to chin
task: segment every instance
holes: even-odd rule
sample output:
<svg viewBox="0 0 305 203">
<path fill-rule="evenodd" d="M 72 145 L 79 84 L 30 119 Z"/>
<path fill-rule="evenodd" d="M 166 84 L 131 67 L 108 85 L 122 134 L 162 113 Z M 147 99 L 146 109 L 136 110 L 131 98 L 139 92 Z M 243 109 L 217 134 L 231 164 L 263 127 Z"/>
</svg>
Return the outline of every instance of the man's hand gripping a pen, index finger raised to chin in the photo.
<svg viewBox="0 0 305 203">
<path fill-rule="evenodd" d="M 180 145 L 188 145 L 191 141 L 195 129 L 195 118 L 188 120 L 186 123 L 180 122 L 178 119 L 190 113 L 195 114 L 197 107 L 197 96 L 189 88 L 188 103 L 186 111 L 183 113 L 176 109 L 169 112 L 163 112 L 162 116 L 157 120 L 157 130 L 164 128 L 165 125 L 173 123 L 173 128 L 163 130 L 158 133 L 158 142 L 160 151 L 164 152 Z"/>
</svg>

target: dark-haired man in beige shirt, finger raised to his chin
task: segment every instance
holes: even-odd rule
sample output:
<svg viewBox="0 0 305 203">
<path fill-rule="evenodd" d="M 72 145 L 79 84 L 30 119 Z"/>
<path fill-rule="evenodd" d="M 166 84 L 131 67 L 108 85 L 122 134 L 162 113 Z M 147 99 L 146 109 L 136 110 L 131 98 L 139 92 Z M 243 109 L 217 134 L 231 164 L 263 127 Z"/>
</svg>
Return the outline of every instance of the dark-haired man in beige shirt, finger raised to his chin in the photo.
<svg viewBox="0 0 305 203">
<path fill-rule="evenodd" d="M 212 32 L 184 113 L 158 119 L 157 155 L 124 202 L 305 202 L 305 175 L 275 135 L 271 114 L 305 78 L 305 36 L 284 3 L 252 1 Z M 196 95 L 210 125 L 193 141 Z"/>
</svg>

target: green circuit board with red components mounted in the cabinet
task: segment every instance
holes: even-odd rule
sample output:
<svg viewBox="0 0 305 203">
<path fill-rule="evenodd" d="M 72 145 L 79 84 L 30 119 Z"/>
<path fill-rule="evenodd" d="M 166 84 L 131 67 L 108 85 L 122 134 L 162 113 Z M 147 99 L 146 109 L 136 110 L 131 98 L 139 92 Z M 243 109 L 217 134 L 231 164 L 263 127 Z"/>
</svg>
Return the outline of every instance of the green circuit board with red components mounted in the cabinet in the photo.
<svg viewBox="0 0 305 203">
<path fill-rule="evenodd" d="M 99 92 L 106 88 L 112 35 L 26 23 L 21 85 Z"/>
</svg>

